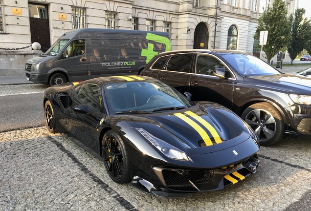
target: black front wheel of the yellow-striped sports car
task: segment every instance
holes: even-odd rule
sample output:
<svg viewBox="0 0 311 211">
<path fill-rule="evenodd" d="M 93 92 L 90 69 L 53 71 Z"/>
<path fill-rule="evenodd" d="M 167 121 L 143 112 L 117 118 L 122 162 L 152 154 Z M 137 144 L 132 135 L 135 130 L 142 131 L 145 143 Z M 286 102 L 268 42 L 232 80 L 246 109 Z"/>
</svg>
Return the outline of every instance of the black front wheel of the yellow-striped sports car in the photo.
<svg viewBox="0 0 311 211">
<path fill-rule="evenodd" d="M 102 156 L 105 168 L 114 182 L 131 181 L 127 150 L 121 137 L 113 130 L 107 131 L 103 137 Z"/>
</svg>

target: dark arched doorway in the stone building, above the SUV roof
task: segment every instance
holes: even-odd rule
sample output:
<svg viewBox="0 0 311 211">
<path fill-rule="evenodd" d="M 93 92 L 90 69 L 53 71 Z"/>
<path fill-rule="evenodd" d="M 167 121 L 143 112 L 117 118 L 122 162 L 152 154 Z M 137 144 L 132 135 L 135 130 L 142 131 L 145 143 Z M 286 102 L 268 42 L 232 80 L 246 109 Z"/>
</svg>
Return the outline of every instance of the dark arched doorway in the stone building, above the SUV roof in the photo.
<svg viewBox="0 0 311 211">
<path fill-rule="evenodd" d="M 208 49 L 208 29 L 204 23 L 197 25 L 193 42 L 194 49 Z"/>
</svg>

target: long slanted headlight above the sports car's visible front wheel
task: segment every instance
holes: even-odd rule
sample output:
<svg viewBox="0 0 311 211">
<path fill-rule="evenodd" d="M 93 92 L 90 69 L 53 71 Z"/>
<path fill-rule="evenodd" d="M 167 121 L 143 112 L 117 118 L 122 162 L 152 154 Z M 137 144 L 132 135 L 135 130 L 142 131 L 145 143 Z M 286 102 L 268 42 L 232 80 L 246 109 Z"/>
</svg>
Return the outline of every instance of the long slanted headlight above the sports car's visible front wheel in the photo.
<svg viewBox="0 0 311 211">
<path fill-rule="evenodd" d="M 148 141 L 150 141 L 151 144 L 153 144 L 165 156 L 175 160 L 189 161 L 189 158 L 184 151 L 166 143 L 165 141 L 159 138 L 156 138 L 143 128 L 136 128 L 136 130 L 140 132 Z"/>
</svg>

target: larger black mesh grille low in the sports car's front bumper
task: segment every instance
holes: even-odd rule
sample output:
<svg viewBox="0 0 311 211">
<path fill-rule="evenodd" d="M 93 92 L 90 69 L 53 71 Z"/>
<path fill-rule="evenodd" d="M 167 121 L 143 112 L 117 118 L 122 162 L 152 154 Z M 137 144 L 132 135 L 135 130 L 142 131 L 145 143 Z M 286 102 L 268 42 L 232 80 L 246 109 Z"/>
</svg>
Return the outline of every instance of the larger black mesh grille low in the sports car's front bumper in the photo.
<svg viewBox="0 0 311 211">
<path fill-rule="evenodd" d="M 213 180 L 213 170 L 163 169 L 163 178 L 169 188 L 192 187 L 209 184 Z"/>
</svg>

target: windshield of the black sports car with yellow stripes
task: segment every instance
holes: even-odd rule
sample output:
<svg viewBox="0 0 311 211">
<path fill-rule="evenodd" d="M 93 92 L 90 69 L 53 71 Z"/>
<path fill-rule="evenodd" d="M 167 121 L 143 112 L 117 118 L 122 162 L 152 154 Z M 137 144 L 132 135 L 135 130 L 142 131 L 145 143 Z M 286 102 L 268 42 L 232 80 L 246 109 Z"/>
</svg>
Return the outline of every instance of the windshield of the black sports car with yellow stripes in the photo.
<svg viewBox="0 0 311 211">
<path fill-rule="evenodd" d="M 148 113 L 191 106 L 185 96 L 159 81 L 108 84 L 104 93 L 110 113 Z"/>
</svg>

